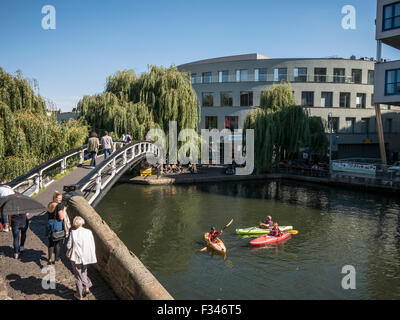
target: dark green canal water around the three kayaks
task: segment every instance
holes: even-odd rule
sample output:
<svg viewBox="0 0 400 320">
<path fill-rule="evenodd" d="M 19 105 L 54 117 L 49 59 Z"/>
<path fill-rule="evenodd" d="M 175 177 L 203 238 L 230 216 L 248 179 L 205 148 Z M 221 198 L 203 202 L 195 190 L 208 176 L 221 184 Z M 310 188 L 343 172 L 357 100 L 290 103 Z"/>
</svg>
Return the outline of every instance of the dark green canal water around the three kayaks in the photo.
<svg viewBox="0 0 400 320">
<path fill-rule="evenodd" d="M 292 181 L 120 184 L 96 208 L 175 299 L 233 300 L 400 299 L 399 209 L 395 197 Z M 299 233 L 260 248 L 235 234 L 267 215 Z M 232 218 L 226 257 L 200 252 L 204 232 Z M 342 287 L 349 265 L 354 290 Z"/>
</svg>

